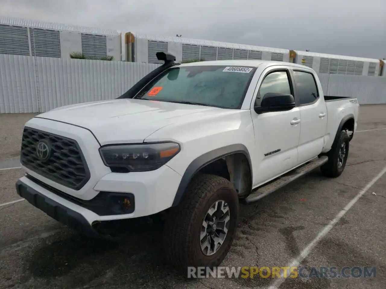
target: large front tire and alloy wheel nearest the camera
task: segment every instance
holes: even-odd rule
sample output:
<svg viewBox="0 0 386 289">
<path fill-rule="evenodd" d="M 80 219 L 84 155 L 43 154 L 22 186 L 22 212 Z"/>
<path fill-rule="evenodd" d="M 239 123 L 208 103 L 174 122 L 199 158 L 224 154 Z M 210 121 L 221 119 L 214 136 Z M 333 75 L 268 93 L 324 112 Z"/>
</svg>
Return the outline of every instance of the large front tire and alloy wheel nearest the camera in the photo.
<svg viewBox="0 0 386 289">
<path fill-rule="evenodd" d="M 198 175 L 164 227 L 168 263 L 181 272 L 188 266 L 217 267 L 232 245 L 239 214 L 237 192 L 228 180 Z"/>
</svg>

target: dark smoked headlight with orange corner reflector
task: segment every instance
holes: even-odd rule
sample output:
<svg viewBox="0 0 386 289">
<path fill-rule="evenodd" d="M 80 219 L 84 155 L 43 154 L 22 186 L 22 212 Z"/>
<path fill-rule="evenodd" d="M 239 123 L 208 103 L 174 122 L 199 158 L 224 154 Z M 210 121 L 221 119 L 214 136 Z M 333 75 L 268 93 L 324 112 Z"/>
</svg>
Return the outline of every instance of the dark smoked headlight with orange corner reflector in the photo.
<svg viewBox="0 0 386 289">
<path fill-rule="evenodd" d="M 128 171 L 157 170 L 180 150 L 178 143 L 144 143 L 107 145 L 99 149 L 105 165 Z"/>
</svg>

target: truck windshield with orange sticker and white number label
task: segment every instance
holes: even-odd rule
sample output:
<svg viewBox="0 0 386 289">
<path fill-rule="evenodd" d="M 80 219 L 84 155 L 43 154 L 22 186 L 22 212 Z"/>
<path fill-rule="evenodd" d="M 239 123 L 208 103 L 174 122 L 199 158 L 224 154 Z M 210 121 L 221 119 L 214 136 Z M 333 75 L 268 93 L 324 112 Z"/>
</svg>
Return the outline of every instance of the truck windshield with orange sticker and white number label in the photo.
<svg viewBox="0 0 386 289">
<path fill-rule="evenodd" d="M 134 98 L 238 109 L 256 67 L 172 67 Z"/>
</svg>

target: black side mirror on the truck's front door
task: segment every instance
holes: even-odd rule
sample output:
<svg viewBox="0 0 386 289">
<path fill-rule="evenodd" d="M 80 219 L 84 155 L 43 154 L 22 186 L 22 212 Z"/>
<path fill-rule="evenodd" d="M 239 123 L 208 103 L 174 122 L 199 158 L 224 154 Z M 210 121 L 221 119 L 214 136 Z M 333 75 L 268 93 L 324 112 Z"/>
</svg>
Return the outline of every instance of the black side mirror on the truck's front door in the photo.
<svg viewBox="0 0 386 289">
<path fill-rule="evenodd" d="M 271 111 L 288 111 L 295 108 L 295 99 L 291 94 L 281 92 L 268 92 L 264 94 L 260 106 L 256 106 L 256 113 L 267 113 Z"/>
</svg>

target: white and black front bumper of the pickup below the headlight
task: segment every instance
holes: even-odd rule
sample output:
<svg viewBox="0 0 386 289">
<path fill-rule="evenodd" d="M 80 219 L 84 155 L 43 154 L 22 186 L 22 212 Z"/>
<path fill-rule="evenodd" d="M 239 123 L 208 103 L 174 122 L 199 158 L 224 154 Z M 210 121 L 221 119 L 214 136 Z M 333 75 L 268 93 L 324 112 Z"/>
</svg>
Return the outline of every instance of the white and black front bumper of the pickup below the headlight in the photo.
<svg viewBox="0 0 386 289">
<path fill-rule="evenodd" d="M 109 173 L 93 188 L 96 192 L 127 195 L 133 210 L 122 213 L 105 208 L 101 213 L 95 207 L 95 198 L 74 200 L 70 195 L 49 187 L 39 180 L 23 176 L 16 183 L 17 193 L 55 220 L 74 229 L 91 232 L 93 224 L 102 221 L 145 217 L 172 206 L 181 176 L 168 166 L 143 173 Z M 97 195 L 98 197 L 98 195 Z M 81 202 L 80 202 L 81 201 Z M 102 204 L 101 204 L 102 201 Z M 90 202 L 90 203 L 89 203 Z M 85 205 L 86 204 L 86 205 Z M 111 206 L 98 200 L 98 206 Z M 112 212 L 106 214 L 105 212 Z"/>
</svg>

